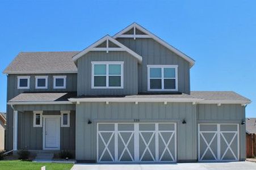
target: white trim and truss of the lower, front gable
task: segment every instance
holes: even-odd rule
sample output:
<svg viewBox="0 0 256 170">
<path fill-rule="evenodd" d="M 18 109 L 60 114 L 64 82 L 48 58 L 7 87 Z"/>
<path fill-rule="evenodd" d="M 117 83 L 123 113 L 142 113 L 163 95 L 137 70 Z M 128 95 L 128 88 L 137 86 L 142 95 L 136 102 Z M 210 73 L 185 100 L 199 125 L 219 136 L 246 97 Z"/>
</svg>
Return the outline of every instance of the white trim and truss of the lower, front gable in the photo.
<svg viewBox="0 0 256 170">
<path fill-rule="evenodd" d="M 97 46 L 102 44 L 104 41 L 106 41 L 106 48 L 98 48 Z M 117 45 L 118 47 L 115 48 L 111 48 L 108 46 L 108 42 L 111 41 L 112 43 L 114 43 L 115 45 Z M 113 39 L 111 36 L 106 35 L 104 37 L 102 37 L 102 39 L 94 42 L 94 44 L 88 46 L 86 49 L 82 50 L 81 52 L 79 52 L 78 54 L 76 54 L 75 56 L 73 56 L 73 61 L 77 61 L 78 58 L 82 57 L 83 55 L 85 55 L 86 53 L 90 52 L 90 51 L 106 51 L 108 53 L 108 51 L 126 51 L 129 54 L 131 54 L 133 57 L 137 58 L 139 62 L 142 61 L 142 57 L 133 52 L 133 50 L 127 48 L 127 46 L 121 44 L 119 41 L 116 41 L 115 39 Z"/>
</svg>

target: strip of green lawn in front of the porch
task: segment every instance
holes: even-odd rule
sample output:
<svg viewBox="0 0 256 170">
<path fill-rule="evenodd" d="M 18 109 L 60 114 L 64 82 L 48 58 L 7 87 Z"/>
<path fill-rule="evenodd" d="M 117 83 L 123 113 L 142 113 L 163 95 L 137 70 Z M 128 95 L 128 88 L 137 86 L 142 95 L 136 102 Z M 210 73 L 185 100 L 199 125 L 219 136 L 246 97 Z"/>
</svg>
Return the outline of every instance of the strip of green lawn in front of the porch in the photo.
<svg viewBox="0 0 256 170">
<path fill-rule="evenodd" d="M 0 160 L 0 169 L 7 170 L 36 170 L 41 169 L 41 167 L 46 166 L 47 170 L 69 170 L 73 167 L 73 164 L 69 163 L 35 163 L 27 162 L 21 160 Z"/>
</svg>

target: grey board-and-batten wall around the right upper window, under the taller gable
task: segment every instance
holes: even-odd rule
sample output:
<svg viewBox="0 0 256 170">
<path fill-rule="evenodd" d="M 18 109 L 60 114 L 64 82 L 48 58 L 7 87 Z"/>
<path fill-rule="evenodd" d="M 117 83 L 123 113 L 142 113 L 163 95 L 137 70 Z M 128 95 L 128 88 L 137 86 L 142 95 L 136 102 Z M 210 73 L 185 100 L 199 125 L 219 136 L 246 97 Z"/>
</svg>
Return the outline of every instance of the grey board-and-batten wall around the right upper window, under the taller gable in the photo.
<svg viewBox="0 0 256 170">
<path fill-rule="evenodd" d="M 142 64 L 138 65 L 139 92 L 148 92 L 147 65 L 178 65 L 178 91 L 190 94 L 190 64 L 188 61 L 153 39 L 118 38 L 117 41 L 142 56 Z"/>
</svg>

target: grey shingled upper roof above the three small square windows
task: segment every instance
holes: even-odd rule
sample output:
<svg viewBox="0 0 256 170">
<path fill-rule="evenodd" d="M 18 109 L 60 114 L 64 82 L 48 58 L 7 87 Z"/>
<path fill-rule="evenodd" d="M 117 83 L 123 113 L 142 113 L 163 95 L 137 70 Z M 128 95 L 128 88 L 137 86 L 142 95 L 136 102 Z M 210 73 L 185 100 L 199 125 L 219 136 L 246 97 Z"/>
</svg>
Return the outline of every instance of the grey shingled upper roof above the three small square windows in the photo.
<svg viewBox="0 0 256 170">
<path fill-rule="evenodd" d="M 77 73 L 72 57 L 79 52 L 20 52 L 5 74 Z"/>
</svg>

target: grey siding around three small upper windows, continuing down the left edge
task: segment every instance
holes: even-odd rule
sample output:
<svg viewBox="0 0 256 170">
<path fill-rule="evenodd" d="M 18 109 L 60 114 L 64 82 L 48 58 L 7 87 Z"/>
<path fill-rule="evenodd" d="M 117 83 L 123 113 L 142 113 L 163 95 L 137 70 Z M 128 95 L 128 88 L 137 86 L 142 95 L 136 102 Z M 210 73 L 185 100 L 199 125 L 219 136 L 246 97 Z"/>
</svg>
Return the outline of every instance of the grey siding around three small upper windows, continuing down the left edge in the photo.
<svg viewBox="0 0 256 170">
<path fill-rule="evenodd" d="M 36 89 L 35 88 L 35 76 L 48 75 L 48 88 Z M 66 75 L 66 88 L 54 89 L 53 88 L 53 76 L 54 75 Z M 30 76 L 30 89 L 18 89 L 18 76 Z M 73 92 L 77 91 L 77 74 L 9 74 L 7 76 L 7 102 L 13 97 L 22 94 L 23 92 Z M 10 105 L 6 108 L 6 150 L 12 150 L 12 121 L 13 110 Z"/>
</svg>

